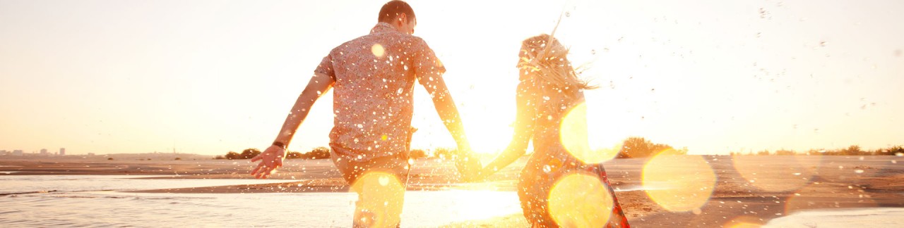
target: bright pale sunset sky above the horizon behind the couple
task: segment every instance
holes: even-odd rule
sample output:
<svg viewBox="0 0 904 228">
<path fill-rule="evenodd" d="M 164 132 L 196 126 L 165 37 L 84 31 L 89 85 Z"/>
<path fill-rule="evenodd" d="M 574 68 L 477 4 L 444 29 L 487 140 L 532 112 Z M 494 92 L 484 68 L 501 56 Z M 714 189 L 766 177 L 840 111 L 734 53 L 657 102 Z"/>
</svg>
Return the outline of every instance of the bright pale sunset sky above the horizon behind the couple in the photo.
<svg viewBox="0 0 904 228">
<path fill-rule="evenodd" d="M 408 1 L 478 152 L 504 149 L 520 43 L 570 47 L 589 141 L 692 154 L 904 144 L 904 2 Z M 384 1 L 0 0 L 0 150 L 266 148 Z M 412 148 L 453 147 L 423 87 Z M 326 146 L 332 93 L 289 150 Z"/>
</svg>

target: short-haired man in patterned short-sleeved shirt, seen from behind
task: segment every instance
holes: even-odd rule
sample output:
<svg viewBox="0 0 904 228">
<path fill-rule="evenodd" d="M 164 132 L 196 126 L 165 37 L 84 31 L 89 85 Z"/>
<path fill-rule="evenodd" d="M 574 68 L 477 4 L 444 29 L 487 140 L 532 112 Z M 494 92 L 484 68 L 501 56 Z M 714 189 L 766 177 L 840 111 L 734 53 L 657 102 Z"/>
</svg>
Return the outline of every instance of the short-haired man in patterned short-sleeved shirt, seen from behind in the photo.
<svg viewBox="0 0 904 228">
<path fill-rule="evenodd" d="M 334 87 L 330 155 L 358 193 L 353 225 L 398 225 L 410 169 L 415 81 L 427 89 L 439 117 L 457 142 L 459 171 L 469 174 L 480 169 L 467 154 L 470 145 L 442 78 L 446 68 L 425 41 L 411 35 L 415 25 L 411 6 L 391 1 L 382 6 L 370 34 L 331 50 L 298 96 L 273 145 L 251 160 L 260 161 L 251 174 L 267 178 L 282 166 L 286 147 L 311 105 Z"/>
</svg>

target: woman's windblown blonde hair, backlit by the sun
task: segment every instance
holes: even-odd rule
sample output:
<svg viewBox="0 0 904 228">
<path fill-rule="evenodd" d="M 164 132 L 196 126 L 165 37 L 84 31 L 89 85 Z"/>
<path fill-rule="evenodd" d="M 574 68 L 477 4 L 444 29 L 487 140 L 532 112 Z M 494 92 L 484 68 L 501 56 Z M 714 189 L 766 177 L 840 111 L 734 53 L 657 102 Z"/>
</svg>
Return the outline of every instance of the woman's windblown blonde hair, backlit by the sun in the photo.
<svg viewBox="0 0 904 228">
<path fill-rule="evenodd" d="M 521 80 L 532 80 L 538 86 L 557 90 L 597 88 L 578 78 L 567 57 L 568 51 L 549 34 L 522 41 L 518 54 L 518 68 L 524 73 Z"/>
</svg>

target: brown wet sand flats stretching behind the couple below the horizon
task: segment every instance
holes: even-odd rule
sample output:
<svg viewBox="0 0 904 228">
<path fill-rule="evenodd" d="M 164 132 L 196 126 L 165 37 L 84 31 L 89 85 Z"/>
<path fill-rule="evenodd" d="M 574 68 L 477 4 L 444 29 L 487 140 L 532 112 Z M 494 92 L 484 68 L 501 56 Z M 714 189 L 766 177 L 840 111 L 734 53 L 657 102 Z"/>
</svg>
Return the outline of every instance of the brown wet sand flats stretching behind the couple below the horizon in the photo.
<svg viewBox="0 0 904 228">
<path fill-rule="evenodd" d="M 894 156 L 703 156 L 714 190 L 698 210 L 670 211 L 643 190 L 617 191 L 632 225 L 720 227 L 764 224 L 815 208 L 904 207 L 904 162 Z M 606 163 L 616 189 L 643 185 L 648 159 Z M 492 189 L 514 191 L 524 160 L 485 183 L 462 183 L 443 160 L 417 160 L 409 190 Z M 675 164 L 676 167 L 681 164 Z M 156 178 L 251 178 L 248 160 L 0 160 L 3 175 L 167 175 Z M 145 193 L 347 192 L 330 160 L 287 160 L 272 178 L 297 182 L 141 190 Z M 522 214 L 450 224 L 453 227 L 527 226 Z"/>
</svg>

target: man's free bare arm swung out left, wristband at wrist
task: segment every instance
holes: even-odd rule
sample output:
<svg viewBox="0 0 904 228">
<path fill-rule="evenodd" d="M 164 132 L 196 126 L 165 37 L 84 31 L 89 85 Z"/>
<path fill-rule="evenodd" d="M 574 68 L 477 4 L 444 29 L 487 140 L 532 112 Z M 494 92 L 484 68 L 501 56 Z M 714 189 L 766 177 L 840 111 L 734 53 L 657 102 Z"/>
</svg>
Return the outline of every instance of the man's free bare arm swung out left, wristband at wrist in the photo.
<svg viewBox="0 0 904 228">
<path fill-rule="evenodd" d="M 286 148 L 288 143 L 292 141 L 298 126 L 305 121 L 307 113 L 311 110 L 311 106 L 320 96 L 324 95 L 327 90 L 333 87 L 334 79 L 325 74 L 315 73 L 311 81 L 307 83 L 305 90 L 301 92 L 295 105 L 292 105 L 291 111 L 286 116 L 286 122 L 277 134 L 273 145 L 260 155 L 251 159 L 251 162 L 260 161 L 258 166 L 251 170 L 251 175 L 255 178 L 267 178 L 279 167 L 282 167 L 282 161 L 286 158 Z M 282 146 L 278 146 L 282 144 Z"/>
</svg>

